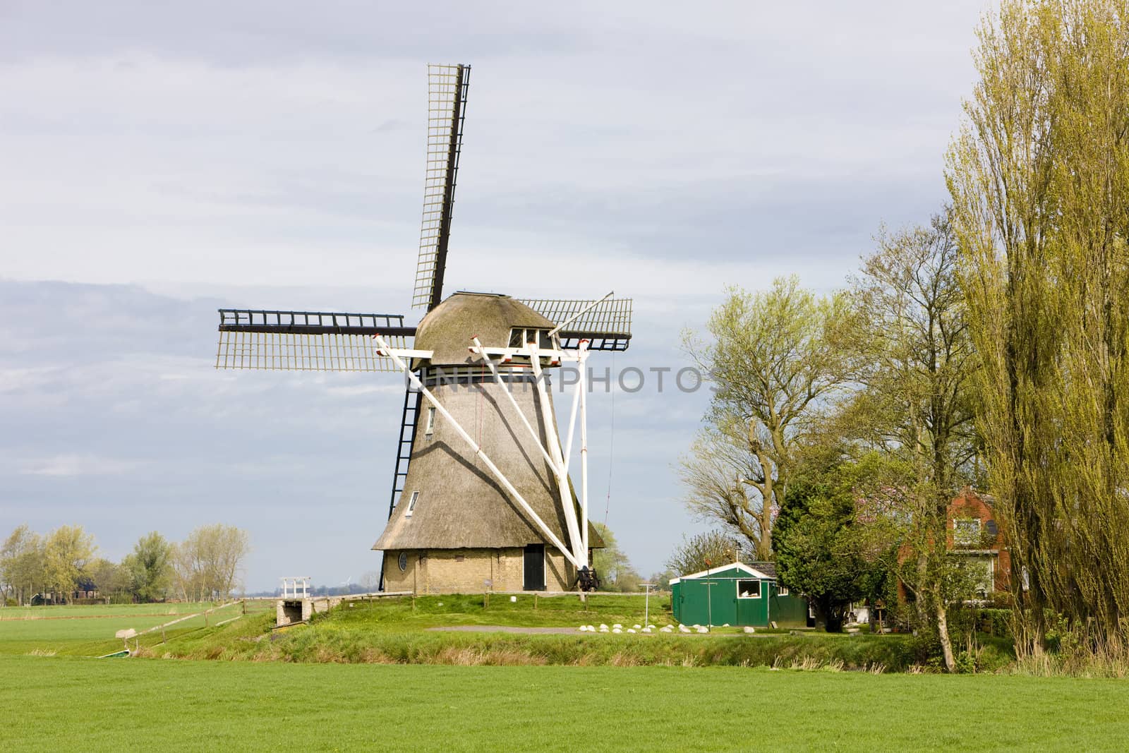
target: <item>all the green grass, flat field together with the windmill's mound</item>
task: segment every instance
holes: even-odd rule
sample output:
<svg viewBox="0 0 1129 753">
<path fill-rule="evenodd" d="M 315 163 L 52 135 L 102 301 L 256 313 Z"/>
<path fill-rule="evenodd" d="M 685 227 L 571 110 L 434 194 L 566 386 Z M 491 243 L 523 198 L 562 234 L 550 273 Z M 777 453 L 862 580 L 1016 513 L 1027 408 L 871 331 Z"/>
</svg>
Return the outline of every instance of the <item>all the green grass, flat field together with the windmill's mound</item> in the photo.
<svg viewBox="0 0 1129 753">
<path fill-rule="evenodd" d="M 651 606 L 653 623 L 669 622 L 663 602 Z M 282 631 L 271 630 L 272 603 L 250 607 L 177 623 L 167 642 L 142 636 L 146 656 L 189 657 L 165 659 L 79 657 L 121 648 L 115 630 L 201 605 L 6 610 L 0 751 L 1124 750 L 1129 739 L 1124 681 L 829 671 L 901 668 L 904 636 L 429 630 L 642 623 L 641 601 L 615 596 L 361 602 Z M 480 666 L 491 664 L 505 666 Z"/>
</svg>

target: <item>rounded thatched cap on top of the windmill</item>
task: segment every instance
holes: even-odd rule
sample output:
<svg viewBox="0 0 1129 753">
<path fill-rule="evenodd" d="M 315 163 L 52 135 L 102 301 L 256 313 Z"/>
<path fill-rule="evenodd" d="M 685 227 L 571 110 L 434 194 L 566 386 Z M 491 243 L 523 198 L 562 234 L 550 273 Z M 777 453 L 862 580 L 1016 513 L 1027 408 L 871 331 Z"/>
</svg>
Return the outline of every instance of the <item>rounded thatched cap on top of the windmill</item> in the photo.
<svg viewBox="0 0 1129 753">
<path fill-rule="evenodd" d="M 492 292 L 458 291 L 427 313 L 415 329 L 415 348 L 432 351 L 434 366 L 478 362 L 467 345 L 506 348 L 517 327 L 551 330 L 553 323 L 522 301 Z M 420 365 L 420 364 L 418 364 Z"/>
</svg>

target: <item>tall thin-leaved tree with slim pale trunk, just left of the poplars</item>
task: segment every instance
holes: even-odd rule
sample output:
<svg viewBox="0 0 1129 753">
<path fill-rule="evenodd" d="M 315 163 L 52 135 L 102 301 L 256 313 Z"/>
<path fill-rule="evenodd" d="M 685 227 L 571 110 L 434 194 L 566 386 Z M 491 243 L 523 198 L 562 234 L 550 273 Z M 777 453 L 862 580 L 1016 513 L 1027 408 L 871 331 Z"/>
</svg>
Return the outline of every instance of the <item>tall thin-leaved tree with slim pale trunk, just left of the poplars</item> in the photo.
<svg viewBox="0 0 1129 753">
<path fill-rule="evenodd" d="M 918 622 L 937 631 L 955 669 L 943 584 L 949 501 L 972 476 L 973 379 L 978 359 L 957 278 L 957 245 L 946 216 L 928 227 L 882 233 L 851 280 L 855 382 L 843 435 L 886 456 L 891 501 L 900 502 L 909 561 L 901 578 L 917 597 Z"/>
</svg>

